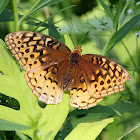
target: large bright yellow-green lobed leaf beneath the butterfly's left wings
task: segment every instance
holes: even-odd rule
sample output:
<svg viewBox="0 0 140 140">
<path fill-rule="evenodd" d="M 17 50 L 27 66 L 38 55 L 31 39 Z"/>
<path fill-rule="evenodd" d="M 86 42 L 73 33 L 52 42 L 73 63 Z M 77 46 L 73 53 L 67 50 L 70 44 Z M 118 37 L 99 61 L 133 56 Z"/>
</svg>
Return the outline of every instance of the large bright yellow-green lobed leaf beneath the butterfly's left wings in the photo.
<svg viewBox="0 0 140 140">
<path fill-rule="evenodd" d="M 20 104 L 20 110 L 0 106 L 0 118 L 29 126 L 29 130 L 21 132 L 32 139 L 45 137 L 54 139 L 64 123 L 69 112 L 69 95 L 64 94 L 63 101 L 57 105 L 47 105 L 41 108 L 37 97 L 32 93 L 24 78 L 25 71 L 20 71 L 11 54 L 0 40 L 0 93 L 15 98 Z"/>
</svg>

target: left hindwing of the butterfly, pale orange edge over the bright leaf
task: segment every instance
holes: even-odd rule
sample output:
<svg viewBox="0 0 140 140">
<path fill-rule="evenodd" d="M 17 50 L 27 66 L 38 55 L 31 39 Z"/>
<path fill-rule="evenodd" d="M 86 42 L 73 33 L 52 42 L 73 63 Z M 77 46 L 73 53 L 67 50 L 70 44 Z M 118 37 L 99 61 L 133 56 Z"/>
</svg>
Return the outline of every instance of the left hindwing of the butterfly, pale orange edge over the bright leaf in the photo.
<svg viewBox="0 0 140 140">
<path fill-rule="evenodd" d="M 38 99 L 46 104 L 57 104 L 63 97 L 63 77 L 66 76 L 69 63 L 64 60 L 40 71 L 25 73 L 29 87 Z"/>
</svg>

